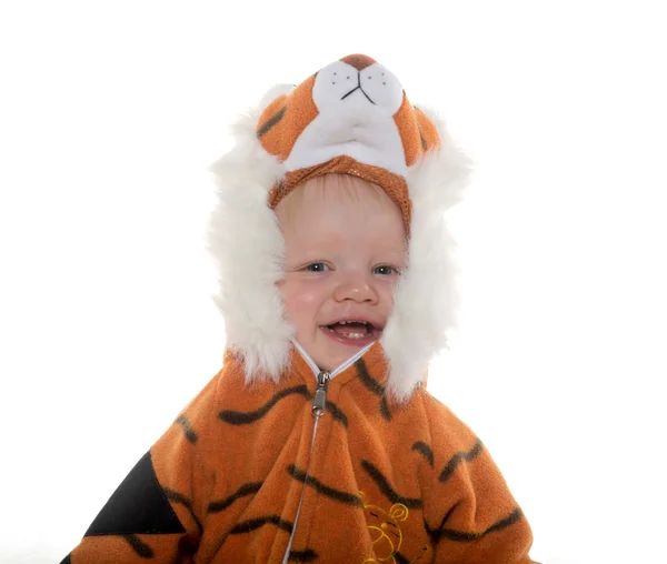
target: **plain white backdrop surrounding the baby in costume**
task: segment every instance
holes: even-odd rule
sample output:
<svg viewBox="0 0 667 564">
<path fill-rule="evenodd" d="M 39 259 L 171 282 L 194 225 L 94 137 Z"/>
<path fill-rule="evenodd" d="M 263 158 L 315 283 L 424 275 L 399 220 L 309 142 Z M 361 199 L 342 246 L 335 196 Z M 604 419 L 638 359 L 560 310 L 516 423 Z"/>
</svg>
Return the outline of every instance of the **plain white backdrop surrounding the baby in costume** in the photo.
<svg viewBox="0 0 667 564">
<path fill-rule="evenodd" d="M 277 82 L 354 52 L 476 161 L 432 392 L 549 564 L 667 562 L 661 2 L 0 8 L 0 562 L 59 562 L 218 371 L 207 165 Z"/>
</svg>

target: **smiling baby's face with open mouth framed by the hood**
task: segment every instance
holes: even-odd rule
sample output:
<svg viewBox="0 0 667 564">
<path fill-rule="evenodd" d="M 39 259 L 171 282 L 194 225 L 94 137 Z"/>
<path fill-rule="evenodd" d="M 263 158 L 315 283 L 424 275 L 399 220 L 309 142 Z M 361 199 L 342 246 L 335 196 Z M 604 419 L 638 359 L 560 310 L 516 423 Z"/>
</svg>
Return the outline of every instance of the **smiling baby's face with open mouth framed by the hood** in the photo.
<svg viewBox="0 0 667 564">
<path fill-rule="evenodd" d="M 279 288 L 297 342 L 332 371 L 382 334 L 406 266 L 406 234 L 384 192 L 362 182 L 320 185 L 297 188 L 297 202 L 276 208 L 286 243 Z"/>
</svg>

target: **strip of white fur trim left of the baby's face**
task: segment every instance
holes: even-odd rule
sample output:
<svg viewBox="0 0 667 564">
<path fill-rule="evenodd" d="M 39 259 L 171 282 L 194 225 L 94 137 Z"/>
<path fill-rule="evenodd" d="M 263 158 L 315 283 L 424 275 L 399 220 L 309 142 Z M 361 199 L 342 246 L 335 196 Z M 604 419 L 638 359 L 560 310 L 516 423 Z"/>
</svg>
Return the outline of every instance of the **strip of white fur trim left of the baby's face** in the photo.
<svg viewBox="0 0 667 564">
<path fill-rule="evenodd" d="M 208 231 L 208 249 L 218 264 L 227 345 L 245 360 L 246 381 L 277 380 L 289 363 L 291 325 L 283 316 L 276 283 L 282 278 L 283 239 L 268 193 L 285 167 L 256 135 L 260 112 L 232 128 L 236 147 L 211 165 L 218 205 Z"/>
</svg>

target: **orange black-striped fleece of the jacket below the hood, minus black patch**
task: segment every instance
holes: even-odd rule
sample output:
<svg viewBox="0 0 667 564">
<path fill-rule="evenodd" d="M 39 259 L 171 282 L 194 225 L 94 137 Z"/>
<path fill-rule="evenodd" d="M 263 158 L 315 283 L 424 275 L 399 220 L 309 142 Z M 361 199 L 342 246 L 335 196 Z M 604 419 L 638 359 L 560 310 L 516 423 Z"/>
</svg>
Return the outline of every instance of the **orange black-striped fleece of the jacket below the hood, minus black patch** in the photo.
<svg viewBox="0 0 667 564">
<path fill-rule="evenodd" d="M 301 496 L 289 562 L 531 563 L 530 527 L 481 442 L 424 389 L 389 404 L 386 374 L 376 343 L 331 379 L 312 443 L 301 356 L 279 384 L 245 386 L 228 352 L 151 449 L 186 531 L 87 536 L 71 564 L 145 562 L 137 542 L 156 563 L 279 564 Z"/>
</svg>

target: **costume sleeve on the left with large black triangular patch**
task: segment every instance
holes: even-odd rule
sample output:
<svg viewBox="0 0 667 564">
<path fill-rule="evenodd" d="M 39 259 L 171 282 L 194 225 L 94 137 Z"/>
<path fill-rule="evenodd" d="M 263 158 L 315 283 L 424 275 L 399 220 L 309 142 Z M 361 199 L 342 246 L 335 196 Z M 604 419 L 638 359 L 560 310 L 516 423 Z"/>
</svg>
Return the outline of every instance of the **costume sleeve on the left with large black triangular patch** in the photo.
<svg viewBox="0 0 667 564">
<path fill-rule="evenodd" d="M 206 437 L 218 376 L 135 465 L 61 564 L 193 562 L 205 514 Z"/>
</svg>

